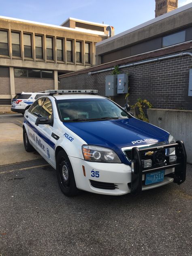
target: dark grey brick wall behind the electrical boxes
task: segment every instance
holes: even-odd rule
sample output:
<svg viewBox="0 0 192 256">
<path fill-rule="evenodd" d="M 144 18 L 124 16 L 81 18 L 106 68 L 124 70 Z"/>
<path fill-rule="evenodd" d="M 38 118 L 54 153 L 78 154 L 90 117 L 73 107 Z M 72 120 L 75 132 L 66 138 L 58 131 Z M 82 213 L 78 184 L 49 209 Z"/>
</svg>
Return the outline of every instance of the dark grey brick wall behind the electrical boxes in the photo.
<svg viewBox="0 0 192 256">
<path fill-rule="evenodd" d="M 187 56 L 120 69 L 129 75 L 129 104 L 142 98 L 149 100 L 154 108 L 192 110 L 192 97 L 188 97 L 191 65 L 192 58 Z M 105 76 L 110 74 L 111 71 L 61 78 L 59 89 L 97 89 L 99 95 L 105 96 Z M 125 94 L 113 100 L 124 106 Z"/>
</svg>

